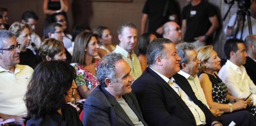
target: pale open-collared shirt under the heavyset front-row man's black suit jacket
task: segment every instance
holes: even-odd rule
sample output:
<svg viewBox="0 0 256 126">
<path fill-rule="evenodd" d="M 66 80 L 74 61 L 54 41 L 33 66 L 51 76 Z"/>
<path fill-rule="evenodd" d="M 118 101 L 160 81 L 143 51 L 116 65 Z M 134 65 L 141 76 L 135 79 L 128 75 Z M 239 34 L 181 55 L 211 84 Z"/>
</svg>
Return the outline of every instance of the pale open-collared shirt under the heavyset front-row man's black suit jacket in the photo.
<svg viewBox="0 0 256 126">
<path fill-rule="evenodd" d="M 181 99 L 186 103 L 186 105 L 189 107 L 190 111 L 192 112 L 194 118 L 195 118 L 195 122 L 196 125 L 202 125 L 202 124 L 206 124 L 206 119 L 205 119 L 205 115 L 203 113 L 203 111 L 198 107 L 198 105 L 196 105 L 193 100 L 180 88 L 180 86 L 175 83 L 174 78 L 172 77 L 171 79 L 167 78 L 166 76 L 158 73 L 157 71 L 155 71 L 153 68 L 149 67 L 150 69 L 152 69 L 154 72 L 156 72 L 162 79 L 164 79 L 164 81 L 166 83 L 170 82 L 174 82 L 174 84 L 169 84 L 173 90 L 181 97 Z"/>
</svg>

